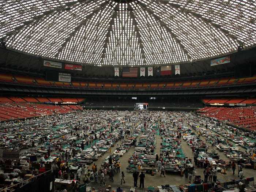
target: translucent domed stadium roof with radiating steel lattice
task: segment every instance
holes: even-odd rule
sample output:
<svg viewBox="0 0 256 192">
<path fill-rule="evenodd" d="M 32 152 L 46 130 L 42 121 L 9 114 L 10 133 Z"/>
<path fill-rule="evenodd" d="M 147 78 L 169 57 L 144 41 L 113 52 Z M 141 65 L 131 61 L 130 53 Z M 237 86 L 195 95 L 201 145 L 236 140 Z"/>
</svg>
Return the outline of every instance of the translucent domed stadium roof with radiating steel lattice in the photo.
<svg viewBox="0 0 256 192">
<path fill-rule="evenodd" d="M 165 65 L 256 44 L 254 0 L 5 0 L 8 49 L 92 65 Z"/>
</svg>

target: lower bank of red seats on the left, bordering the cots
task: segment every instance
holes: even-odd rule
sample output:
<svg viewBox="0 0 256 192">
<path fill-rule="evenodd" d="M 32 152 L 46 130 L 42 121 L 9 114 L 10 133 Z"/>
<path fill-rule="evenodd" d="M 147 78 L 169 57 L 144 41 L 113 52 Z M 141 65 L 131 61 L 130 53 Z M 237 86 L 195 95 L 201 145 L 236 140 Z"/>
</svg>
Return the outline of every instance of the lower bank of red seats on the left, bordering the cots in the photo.
<svg viewBox="0 0 256 192">
<path fill-rule="evenodd" d="M 1 103 L 0 121 L 39 117 L 52 114 L 70 113 L 74 110 L 81 110 L 78 105 L 45 105 L 38 103 Z"/>
</svg>

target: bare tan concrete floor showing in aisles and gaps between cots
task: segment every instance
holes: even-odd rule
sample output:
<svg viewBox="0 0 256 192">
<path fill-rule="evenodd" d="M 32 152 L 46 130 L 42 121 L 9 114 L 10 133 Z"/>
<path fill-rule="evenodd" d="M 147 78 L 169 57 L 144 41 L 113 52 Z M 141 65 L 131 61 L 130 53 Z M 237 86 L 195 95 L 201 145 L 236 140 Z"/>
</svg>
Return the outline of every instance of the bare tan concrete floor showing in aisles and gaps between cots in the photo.
<svg viewBox="0 0 256 192">
<path fill-rule="evenodd" d="M 140 136 L 139 136 L 140 137 Z M 139 140 L 139 137 L 137 138 Z M 202 139 L 205 141 L 205 139 L 202 137 Z M 156 135 L 156 149 L 155 149 L 155 153 L 160 154 L 160 148 L 161 148 L 161 136 Z M 118 141 L 114 147 L 112 147 L 112 151 L 114 151 L 114 149 L 116 148 L 117 144 L 120 144 L 121 142 Z M 184 153 L 187 155 L 187 157 L 193 159 L 193 154 L 192 154 L 192 149 L 188 146 L 188 144 L 182 139 L 181 142 L 182 145 L 182 149 L 184 150 Z M 128 158 L 132 156 L 133 152 L 135 150 L 135 147 L 131 147 L 127 153 L 124 154 L 123 157 L 120 157 L 120 164 L 121 164 L 121 169 L 120 169 L 120 173 L 116 173 L 114 175 L 114 182 L 111 182 L 109 177 L 107 176 L 106 178 L 106 186 L 111 185 L 112 187 L 116 187 L 120 185 L 121 182 L 121 172 L 123 171 L 125 173 L 125 184 L 123 184 L 123 187 L 131 187 L 133 186 L 133 177 L 132 177 L 132 173 L 127 173 L 126 172 L 126 167 L 129 165 L 128 163 Z M 211 151 L 211 147 L 208 149 L 208 151 Z M 226 155 L 223 152 L 220 152 L 218 150 L 216 150 L 217 153 L 219 153 L 220 158 L 221 159 L 225 159 L 227 161 L 229 161 L 229 159 L 227 159 Z M 95 161 L 94 163 L 97 165 L 98 170 L 101 167 L 101 163 L 103 162 L 103 160 L 110 155 L 110 152 L 105 153 L 102 157 L 100 157 L 97 161 Z M 194 163 L 194 162 L 192 162 Z M 93 164 L 89 165 L 89 169 L 91 169 Z M 253 169 L 243 169 L 244 175 L 245 177 L 255 177 L 256 176 L 256 171 Z M 229 179 L 235 179 L 238 180 L 238 176 L 237 176 L 237 170 L 236 170 L 236 174 L 233 176 L 232 171 L 228 170 L 226 172 L 227 174 L 221 174 L 218 173 L 217 175 L 217 180 L 224 182 L 227 181 Z M 145 187 L 149 187 L 149 186 L 153 186 L 153 187 L 157 187 L 160 185 L 183 185 L 183 184 L 188 184 L 188 178 L 185 178 L 185 176 L 181 177 L 179 175 L 172 175 L 172 174 L 165 174 L 166 177 L 164 178 L 163 176 L 160 176 L 160 173 L 155 174 L 155 176 L 151 176 L 150 174 L 146 174 L 145 177 L 145 182 L 144 185 Z M 201 175 L 202 178 L 203 177 L 203 169 L 201 168 L 197 168 L 196 167 L 196 175 Z M 82 182 L 82 181 L 81 181 Z M 139 180 L 138 180 L 139 183 Z M 98 184 L 94 184 L 91 183 L 89 186 L 91 187 L 96 187 L 99 186 Z"/>
</svg>

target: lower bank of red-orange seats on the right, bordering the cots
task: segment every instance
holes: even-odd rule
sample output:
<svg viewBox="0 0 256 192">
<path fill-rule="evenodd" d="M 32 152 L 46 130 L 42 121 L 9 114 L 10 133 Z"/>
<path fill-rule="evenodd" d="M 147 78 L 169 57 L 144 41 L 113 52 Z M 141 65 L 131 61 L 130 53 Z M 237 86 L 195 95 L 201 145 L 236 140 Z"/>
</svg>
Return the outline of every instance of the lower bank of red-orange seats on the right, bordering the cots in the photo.
<svg viewBox="0 0 256 192">
<path fill-rule="evenodd" d="M 256 106 L 227 108 L 227 107 L 204 107 L 197 110 L 207 117 L 213 117 L 220 121 L 228 121 L 233 125 L 256 130 Z"/>
</svg>

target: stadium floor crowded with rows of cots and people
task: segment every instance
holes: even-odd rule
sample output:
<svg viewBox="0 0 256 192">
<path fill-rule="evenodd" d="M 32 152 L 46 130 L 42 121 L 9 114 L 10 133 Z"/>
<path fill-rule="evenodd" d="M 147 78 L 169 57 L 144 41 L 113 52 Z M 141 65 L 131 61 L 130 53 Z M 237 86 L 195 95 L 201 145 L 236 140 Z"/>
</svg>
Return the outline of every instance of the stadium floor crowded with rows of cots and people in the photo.
<svg viewBox="0 0 256 192">
<path fill-rule="evenodd" d="M 201 182 L 211 186 L 212 181 L 255 177 L 255 132 L 195 112 L 82 110 L 4 122 L 1 128 L 1 146 L 21 150 L 20 162 L 14 161 L 18 181 L 30 170 L 36 174 L 52 167 L 57 191 L 72 191 L 72 180 L 87 187 L 134 186 L 133 173 L 138 173 L 137 185 L 142 187 L 142 172 L 145 188 Z M 31 158 L 33 162 L 26 163 Z M 15 183 L 15 172 L 3 171 L 5 182 Z"/>
</svg>

